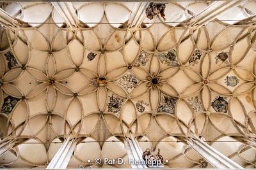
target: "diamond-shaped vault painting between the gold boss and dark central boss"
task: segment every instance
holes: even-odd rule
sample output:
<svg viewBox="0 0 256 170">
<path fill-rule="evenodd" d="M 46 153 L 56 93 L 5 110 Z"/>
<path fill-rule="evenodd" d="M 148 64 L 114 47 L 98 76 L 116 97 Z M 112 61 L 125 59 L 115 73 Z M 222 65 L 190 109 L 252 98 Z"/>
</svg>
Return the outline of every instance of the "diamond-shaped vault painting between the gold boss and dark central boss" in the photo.
<svg viewBox="0 0 256 170">
<path fill-rule="evenodd" d="M 136 78 L 136 76 L 132 75 L 130 72 L 127 72 L 118 80 L 118 83 L 122 85 L 125 90 L 131 91 L 138 86 L 139 80 Z"/>
</svg>

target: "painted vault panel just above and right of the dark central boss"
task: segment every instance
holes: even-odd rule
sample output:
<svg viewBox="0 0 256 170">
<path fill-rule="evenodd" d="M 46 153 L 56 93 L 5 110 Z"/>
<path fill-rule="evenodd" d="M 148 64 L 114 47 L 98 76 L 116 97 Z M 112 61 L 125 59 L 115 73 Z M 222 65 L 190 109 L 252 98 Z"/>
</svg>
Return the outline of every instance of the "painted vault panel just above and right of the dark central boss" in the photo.
<svg viewBox="0 0 256 170">
<path fill-rule="evenodd" d="M 179 66 L 180 63 L 177 60 L 176 50 L 170 50 L 166 53 L 159 53 L 158 55 L 160 61 L 167 66 Z"/>
</svg>

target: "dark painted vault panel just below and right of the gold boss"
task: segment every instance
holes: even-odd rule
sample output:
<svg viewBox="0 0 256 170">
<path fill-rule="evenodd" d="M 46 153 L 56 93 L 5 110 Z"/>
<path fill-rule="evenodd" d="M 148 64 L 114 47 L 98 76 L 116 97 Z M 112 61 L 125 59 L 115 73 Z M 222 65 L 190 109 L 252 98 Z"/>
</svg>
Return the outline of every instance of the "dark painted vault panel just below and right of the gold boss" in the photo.
<svg viewBox="0 0 256 170">
<path fill-rule="evenodd" d="M 112 96 L 109 96 L 108 111 L 118 113 L 121 110 L 123 103 L 124 99 L 121 99 L 118 96 L 114 97 L 114 94 L 112 94 Z"/>
</svg>

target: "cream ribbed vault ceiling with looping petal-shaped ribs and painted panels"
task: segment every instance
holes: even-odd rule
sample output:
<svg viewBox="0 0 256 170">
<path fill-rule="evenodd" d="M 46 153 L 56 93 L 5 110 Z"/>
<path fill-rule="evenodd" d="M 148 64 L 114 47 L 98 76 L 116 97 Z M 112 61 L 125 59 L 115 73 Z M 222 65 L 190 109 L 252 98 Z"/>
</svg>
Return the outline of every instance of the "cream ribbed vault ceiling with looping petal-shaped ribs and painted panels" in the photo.
<svg viewBox="0 0 256 170">
<path fill-rule="evenodd" d="M 131 167 L 87 162 L 127 162 L 131 132 L 143 151 L 161 149 L 164 167 L 202 167 L 200 155 L 176 142 L 191 133 L 256 167 L 256 150 L 241 142 L 256 137 L 256 29 L 239 22 L 256 15 L 256 2 L 188 27 L 211 3 L 167 3 L 166 21 L 145 18 L 133 30 L 134 2 L 72 2 L 75 31 L 51 3 L 2 4 L 24 24 L 0 27 L 0 137 L 19 143 L 0 166 L 45 168 L 72 134 L 79 142 L 68 167 Z"/>
</svg>

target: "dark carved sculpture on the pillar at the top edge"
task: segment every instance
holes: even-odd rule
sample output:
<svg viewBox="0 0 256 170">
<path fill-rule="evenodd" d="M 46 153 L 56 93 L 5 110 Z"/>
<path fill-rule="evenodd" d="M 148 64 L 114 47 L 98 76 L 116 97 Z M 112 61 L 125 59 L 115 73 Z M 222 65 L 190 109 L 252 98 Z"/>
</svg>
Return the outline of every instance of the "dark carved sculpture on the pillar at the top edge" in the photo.
<svg viewBox="0 0 256 170">
<path fill-rule="evenodd" d="M 154 16 L 160 13 L 161 17 L 164 20 L 166 20 L 164 10 L 165 10 L 165 4 L 150 3 L 148 8 L 146 8 L 146 16 L 148 19 L 152 20 Z"/>
</svg>

